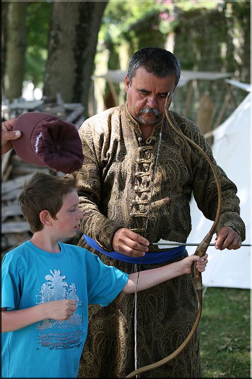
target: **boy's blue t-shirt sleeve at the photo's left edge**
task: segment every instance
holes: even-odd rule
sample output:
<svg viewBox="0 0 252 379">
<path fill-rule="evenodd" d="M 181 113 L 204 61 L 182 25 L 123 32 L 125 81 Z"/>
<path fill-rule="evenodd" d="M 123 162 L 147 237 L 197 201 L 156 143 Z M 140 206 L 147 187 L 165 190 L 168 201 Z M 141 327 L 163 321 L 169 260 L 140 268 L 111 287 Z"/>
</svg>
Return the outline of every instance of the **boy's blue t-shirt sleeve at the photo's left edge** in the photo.
<svg viewBox="0 0 252 379">
<path fill-rule="evenodd" d="M 20 277 L 10 255 L 5 254 L 1 265 L 1 308 L 16 309 L 20 301 Z"/>
</svg>

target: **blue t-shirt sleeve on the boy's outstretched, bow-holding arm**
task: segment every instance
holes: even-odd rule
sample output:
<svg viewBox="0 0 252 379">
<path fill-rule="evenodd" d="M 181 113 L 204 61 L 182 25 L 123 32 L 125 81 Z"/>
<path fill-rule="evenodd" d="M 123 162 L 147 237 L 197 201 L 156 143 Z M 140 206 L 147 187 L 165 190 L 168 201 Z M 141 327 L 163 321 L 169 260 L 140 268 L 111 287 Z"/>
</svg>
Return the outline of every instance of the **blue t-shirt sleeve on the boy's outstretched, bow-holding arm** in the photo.
<svg viewBox="0 0 252 379">
<path fill-rule="evenodd" d="M 107 306 L 128 281 L 127 273 L 113 266 L 104 265 L 100 258 L 92 253 L 87 255 L 86 271 L 88 304 Z"/>
</svg>

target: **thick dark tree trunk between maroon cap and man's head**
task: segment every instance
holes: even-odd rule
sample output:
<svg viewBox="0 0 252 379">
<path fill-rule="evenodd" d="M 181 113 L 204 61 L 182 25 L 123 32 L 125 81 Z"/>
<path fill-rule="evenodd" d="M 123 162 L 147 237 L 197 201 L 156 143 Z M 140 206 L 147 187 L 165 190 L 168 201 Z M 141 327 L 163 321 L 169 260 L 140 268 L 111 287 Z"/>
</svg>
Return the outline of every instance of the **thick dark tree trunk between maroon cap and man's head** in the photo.
<svg viewBox="0 0 252 379">
<path fill-rule="evenodd" d="M 52 2 L 43 95 L 60 93 L 65 103 L 82 103 L 88 91 L 101 18 L 107 1 Z"/>
</svg>

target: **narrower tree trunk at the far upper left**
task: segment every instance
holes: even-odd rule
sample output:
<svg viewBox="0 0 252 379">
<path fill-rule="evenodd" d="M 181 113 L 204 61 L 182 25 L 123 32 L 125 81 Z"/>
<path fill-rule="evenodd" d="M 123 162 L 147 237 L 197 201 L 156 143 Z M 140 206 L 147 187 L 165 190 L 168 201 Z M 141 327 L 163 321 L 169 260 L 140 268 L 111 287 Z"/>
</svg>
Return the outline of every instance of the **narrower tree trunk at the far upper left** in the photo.
<svg viewBox="0 0 252 379">
<path fill-rule="evenodd" d="M 25 19 L 27 5 L 28 2 L 10 1 L 8 6 L 7 27 L 5 30 L 7 43 L 3 96 L 9 101 L 22 95 L 26 50 Z"/>
</svg>

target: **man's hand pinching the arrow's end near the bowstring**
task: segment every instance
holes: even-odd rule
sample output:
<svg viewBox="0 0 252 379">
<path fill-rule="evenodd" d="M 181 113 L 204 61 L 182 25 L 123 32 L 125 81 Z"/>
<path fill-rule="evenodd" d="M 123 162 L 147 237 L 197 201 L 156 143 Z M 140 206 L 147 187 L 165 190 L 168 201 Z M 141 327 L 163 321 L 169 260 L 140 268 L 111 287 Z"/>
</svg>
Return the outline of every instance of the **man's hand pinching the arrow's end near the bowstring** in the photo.
<svg viewBox="0 0 252 379">
<path fill-rule="evenodd" d="M 149 249 L 149 241 L 129 229 L 118 229 L 113 237 L 112 246 L 118 253 L 129 257 L 143 257 Z"/>
</svg>

